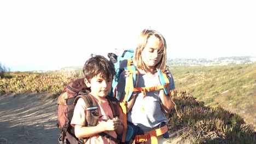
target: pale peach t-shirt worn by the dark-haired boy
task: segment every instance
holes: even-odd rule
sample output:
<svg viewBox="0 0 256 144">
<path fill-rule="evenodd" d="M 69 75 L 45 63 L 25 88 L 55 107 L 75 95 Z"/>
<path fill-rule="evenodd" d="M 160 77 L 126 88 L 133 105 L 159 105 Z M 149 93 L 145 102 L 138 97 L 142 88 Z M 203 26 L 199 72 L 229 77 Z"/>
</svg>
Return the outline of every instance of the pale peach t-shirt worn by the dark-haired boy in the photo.
<svg viewBox="0 0 256 144">
<path fill-rule="evenodd" d="M 98 103 L 99 116 L 103 115 L 102 118 L 98 119 L 97 124 L 101 123 L 102 121 L 107 121 L 109 119 L 109 117 L 111 119 L 113 119 L 113 113 L 108 104 L 108 100 L 106 98 L 101 98 L 101 100 L 100 100 L 101 102 L 100 102 L 97 98 L 94 97 L 94 99 Z M 121 119 L 121 121 L 123 121 L 123 113 L 122 113 L 121 109 L 119 110 L 119 118 Z M 85 122 L 86 122 L 85 102 L 83 99 L 79 99 L 77 101 L 77 105 L 75 105 L 71 125 L 72 125 L 72 127 L 74 127 L 74 125 L 77 125 L 77 124 L 85 125 Z M 104 131 L 104 133 L 107 133 L 107 134 L 117 138 L 117 133 L 115 133 L 114 130 Z M 100 135 L 95 135 L 95 136 L 90 137 L 88 139 L 88 141 L 86 141 L 86 143 L 115 143 L 115 142 L 112 140 L 106 139 L 106 137 L 103 137 Z"/>
</svg>

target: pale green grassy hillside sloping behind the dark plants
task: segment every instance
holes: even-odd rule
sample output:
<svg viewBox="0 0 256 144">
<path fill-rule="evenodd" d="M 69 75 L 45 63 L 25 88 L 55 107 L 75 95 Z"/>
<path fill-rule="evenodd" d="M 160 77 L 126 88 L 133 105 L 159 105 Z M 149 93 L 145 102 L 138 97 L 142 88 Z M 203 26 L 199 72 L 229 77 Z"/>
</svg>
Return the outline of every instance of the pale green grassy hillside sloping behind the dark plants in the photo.
<svg viewBox="0 0 256 144">
<path fill-rule="evenodd" d="M 236 112 L 256 126 L 256 64 L 209 67 L 171 66 L 176 89 L 204 101 L 209 106 L 222 106 Z"/>
</svg>

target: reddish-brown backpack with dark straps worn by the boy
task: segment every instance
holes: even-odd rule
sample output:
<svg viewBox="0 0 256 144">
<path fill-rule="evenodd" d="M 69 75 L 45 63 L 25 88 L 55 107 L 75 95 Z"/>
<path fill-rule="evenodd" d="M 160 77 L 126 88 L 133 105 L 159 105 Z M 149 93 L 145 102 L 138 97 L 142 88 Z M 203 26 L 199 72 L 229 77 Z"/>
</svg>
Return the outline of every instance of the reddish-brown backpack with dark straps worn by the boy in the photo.
<svg viewBox="0 0 256 144">
<path fill-rule="evenodd" d="M 84 139 L 78 139 L 74 134 L 74 127 L 71 126 L 71 120 L 73 117 L 74 107 L 77 104 L 79 98 L 83 98 L 86 107 L 86 126 L 91 127 L 97 124 L 98 116 L 98 106 L 97 102 L 92 98 L 90 93 L 90 88 L 88 88 L 84 79 L 76 79 L 65 85 L 63 92 L 58 98 L 58 127 L 61 131 L 61 136 L 59 137 L 59 143 L 83 143 L 89 137 Z M 110 96 L 106 96 L 109 106 L 113 112 L 114 117 L 119 116 L 119 101 Z M 99 135 L 105 136 L 110 140 L 119 142 L 114 137 L 102 132 Z"/>
</svg>

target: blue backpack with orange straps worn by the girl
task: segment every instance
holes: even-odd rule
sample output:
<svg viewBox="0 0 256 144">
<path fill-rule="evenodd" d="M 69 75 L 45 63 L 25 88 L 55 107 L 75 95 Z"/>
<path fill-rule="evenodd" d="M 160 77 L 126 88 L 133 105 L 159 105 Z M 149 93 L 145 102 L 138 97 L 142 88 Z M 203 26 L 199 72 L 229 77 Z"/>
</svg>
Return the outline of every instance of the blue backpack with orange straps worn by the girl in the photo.
<svg viewBox="0 0 256 144">
<path fill-rule="evenodd" d="M 135 131 L 135 129 L 137 129 L 137 128 L 135 128 L 136 127 L 135 125 L 127 124 L 127 122 L 126 122 L 126 102 L 130 100 L 133 92 L 135 92 L 135 91 L 146 92 L 146 91 L 154 91 L 155 89 L 164 89 L 165 94 L 169 95 L 169 97 L 170 97 L 170 91 L 168 89 L 170 82 L 166 76 L 166 73 L 162 73 L 159 69 L 157 69 L 157 71 L 159 74 L 161 86 L 147 87 L 147 88 L 146 87 L 143 87 L 143 88 L 135 87 L 136 68 L 135 68 L 135 65 L 132 64 L 133 55 L 134 55 L 134 50 L 125 50 L 123 52 L 123 55 L 120 55 L 120 56 L 117 56 L 114 53 L 108 53 L 109 60 L 114 63 L 114 67 L 116 70 L 116 74 L 114 76 L 114 80 L 112 83 L 112 91 L 110 94 L 113 95 L 114 97 L 117 97 L 117 99 L 120 100 L 120 106 L 123 110 L 123 115 L 124 115 L 124 133 L 123 133 L 123 136 L 121 137 L 121 140 L 122 140 L 121 142 L 123 142 L 123 143 L 125 143 L 125 142 L 129 143 L 131 141 L 129 139 L 135 139 L 136 142 L 143 142 L 143 141 L 147 141 L 147 139 L 148 139 L 148 137 L 147 137 L 148 134 L 147 135 L 139 134 L 138 136 L 136 136 L 136 134 L 130 134 L 133 132 L 130 132 L 129 130 Z M 118 83 L 119 75 L 123 71 L 123 69 L 130 70 L 130 72 L 132 74 L 125 78 L 126 79 L 125 80 L 125 89 L 123 89 L 123 92 L 120 93 L 120 92 L 117 92 L 117 83 Z M 167 73 L 170 73 L 170 72 L 167 71 Z M 175 103 L 174 103 L 174 106 L 176 109 Z M 177 110 L 176 110 L 176 112 L 177 112 Z M 136 131 L 138 131 L 138 130 L 136 130 Z M 152 135 L 150 135 L 150 138 L 152 139 L 152 142 L 153 142 L 153 139 L 155 139 L 154 137 L 157 136 L 157 135 L 154 135 L 155 133 L 158 133 L 159 135 L 166 135 L 167 132 L 168 132 L 167 126 L 162 125 L 161 128 L 156 129 L 151 132 Z M 168 134 L 167 134 L 167 137 L 168 137 Z M 154 140 L 154 142 L 155 142 L 155 140 Z"/>
</svg>

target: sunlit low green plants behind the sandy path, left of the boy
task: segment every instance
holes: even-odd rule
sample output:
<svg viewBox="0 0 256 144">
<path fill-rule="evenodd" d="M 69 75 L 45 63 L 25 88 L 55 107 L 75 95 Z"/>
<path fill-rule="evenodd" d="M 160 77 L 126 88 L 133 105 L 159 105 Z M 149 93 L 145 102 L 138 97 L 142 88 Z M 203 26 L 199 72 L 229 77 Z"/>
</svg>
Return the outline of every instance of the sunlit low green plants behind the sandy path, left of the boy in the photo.
<svg viewBox="0 0 256 144">
<path fill-rule="evenodd" d="M 51 92 L 55 98 L 61 94 L 65 83 L 80 75 L 76 70 L 48 73 L 11 72 L 4 79 L 0 79 L 0 94 Z"/>
</svg>

